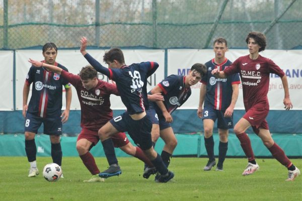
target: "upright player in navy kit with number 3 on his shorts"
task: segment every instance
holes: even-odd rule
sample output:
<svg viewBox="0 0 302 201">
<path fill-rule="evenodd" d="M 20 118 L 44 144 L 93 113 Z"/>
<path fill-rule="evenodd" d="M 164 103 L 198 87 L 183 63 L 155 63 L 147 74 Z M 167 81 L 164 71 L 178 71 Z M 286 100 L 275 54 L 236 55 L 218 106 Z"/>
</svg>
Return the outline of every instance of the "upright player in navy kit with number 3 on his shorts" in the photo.
<svg viewBox="0 0 302 201">
<path fill-rule="evenodd" d="M 211 170 L 216 165 L 214 157 L 213 127 L 217 120 L 219 134 L 218 163 L 216 170 L 223 170 L 223 161 L 228 151 L 229 129 L 233 128 L 233 112 L 238 98 L 240 78 L 239 74 L 230 75 L 224 79 L 217 79 L 212 74 L 213 69 L 224 70 L 232 64 L 225 58 L 228 42 L 224 38 L 217 38 L 214 43 L 215 58 L 206 62 L 207 74 L 201 79 L 199 106 L 197 115 L 203 120 L 204 145 L 209 158 L 203 170 Z M 204 107 L 202 108 L 202 105 Z"/>
</svg>

